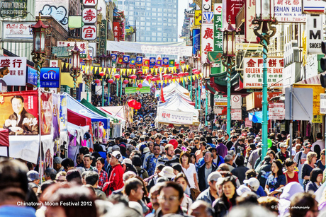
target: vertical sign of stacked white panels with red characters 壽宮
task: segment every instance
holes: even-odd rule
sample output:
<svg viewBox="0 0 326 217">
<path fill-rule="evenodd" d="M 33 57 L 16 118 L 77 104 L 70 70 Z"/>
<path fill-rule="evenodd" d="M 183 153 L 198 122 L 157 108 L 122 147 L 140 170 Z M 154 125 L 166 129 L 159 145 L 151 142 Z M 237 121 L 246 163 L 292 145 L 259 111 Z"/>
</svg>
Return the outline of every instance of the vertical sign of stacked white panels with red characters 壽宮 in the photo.
<svg viewBox="0 0 326 217">
<path fill-rule="evenodd" d="M 83 22 L 86 24 L 81 28 L 81 37 L 83 40 L 95 40 L 97 35 L 96 20 L 97 0 L 83 0 L 84 10 L 82 12 Z"/>
</svg>

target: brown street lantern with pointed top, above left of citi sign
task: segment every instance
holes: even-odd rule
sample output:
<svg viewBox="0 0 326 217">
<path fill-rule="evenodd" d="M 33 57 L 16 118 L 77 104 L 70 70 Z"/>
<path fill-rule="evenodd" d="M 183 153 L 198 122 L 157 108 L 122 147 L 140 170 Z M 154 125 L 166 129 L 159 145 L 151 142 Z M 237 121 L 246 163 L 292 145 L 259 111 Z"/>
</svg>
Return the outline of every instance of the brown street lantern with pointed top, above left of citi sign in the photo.
<svg viewBox="0 0 326 217">
<path fill-rule="evenodd" d="M 32 59 L 38 72 L 38 88 L 40 88 L 40 69 L 42 69 L 42 64 L 45 62 L 46 29 L 49 27 L 50 25 L 43 24 L 40 19 L 40 13 L 38 14 L 38 22 L 35 25 L 30 25 L 33 31 Z"/>
</svg>

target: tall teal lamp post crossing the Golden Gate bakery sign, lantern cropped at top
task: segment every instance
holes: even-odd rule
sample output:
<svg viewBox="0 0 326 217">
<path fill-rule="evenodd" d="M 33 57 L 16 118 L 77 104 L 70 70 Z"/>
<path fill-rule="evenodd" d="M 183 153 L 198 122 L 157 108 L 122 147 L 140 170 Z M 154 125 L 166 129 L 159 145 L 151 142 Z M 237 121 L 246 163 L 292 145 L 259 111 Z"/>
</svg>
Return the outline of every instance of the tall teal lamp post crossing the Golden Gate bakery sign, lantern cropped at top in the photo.
<svg viewBox="0 0 326 217">
<path fill-rule="evenodd" d="M 260 44 L 263 46 L 263 99 L 262 99 L 262 158 L 267 153 L 267 52 L 269 45 L 269 38 L 276 33 L 277 20 L 274 16 L 274 0 L 257 0 L 256 1 L 256 16 L 252 20 L 254 27 L 254 34 L 260 39 Z M 261 33 L 258 33 L 261 32 Z"/>
</svg>

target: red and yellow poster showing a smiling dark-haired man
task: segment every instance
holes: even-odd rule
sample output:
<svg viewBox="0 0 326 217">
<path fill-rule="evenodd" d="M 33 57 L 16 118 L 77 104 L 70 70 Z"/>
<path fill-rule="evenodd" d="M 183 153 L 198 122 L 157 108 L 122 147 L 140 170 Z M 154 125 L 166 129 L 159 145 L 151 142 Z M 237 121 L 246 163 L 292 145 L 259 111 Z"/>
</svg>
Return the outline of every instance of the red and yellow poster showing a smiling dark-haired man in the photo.
<svg viewBox="0 0 326 217">
<path fill-rule="evenodd" d="M 0 94 L 0 126 L 9 135 L 38 135 L 38 91 Z"/>
</svg>

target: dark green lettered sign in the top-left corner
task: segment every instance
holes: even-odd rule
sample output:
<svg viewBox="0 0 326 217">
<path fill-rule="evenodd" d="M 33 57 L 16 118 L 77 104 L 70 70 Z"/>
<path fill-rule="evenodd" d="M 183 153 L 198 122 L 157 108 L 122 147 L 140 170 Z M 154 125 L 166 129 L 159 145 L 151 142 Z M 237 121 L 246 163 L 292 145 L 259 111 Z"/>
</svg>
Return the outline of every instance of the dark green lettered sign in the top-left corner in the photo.
<svg viewBox="0 0 326 217">
<path fill-rule="evenodd" d="M 27 0 L 0 0 L 1 18 L 26 18 Z"/>
</svg>

